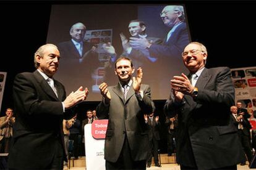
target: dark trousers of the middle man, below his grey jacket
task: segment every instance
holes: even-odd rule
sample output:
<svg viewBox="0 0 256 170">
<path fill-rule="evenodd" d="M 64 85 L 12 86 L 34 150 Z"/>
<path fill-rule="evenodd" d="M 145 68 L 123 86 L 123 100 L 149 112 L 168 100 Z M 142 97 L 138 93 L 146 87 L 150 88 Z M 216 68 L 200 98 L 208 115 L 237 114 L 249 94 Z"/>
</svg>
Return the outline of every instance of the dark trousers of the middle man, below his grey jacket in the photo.
<svg viewBox="0 0 256 170">
<path fill-rule="evenodd" d="M 118 160 L 115 163 L 106 161 L 106 170 L 109 169 L 146 169 L 147 161 L 134 161 L 130 154 L 130 147 L 127 137 L 124 139 L 124 145 L 119 155 Z"/>
</svg>

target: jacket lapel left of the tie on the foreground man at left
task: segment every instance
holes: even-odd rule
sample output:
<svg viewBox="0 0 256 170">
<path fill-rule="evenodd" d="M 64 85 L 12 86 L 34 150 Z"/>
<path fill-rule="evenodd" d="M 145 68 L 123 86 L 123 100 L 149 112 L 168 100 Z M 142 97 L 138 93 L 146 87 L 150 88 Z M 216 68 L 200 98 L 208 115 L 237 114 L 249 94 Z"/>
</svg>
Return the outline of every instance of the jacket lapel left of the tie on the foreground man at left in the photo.
<svg viewBox="0 0 256 170">
<path fill-rule="evenodd" d="M 56 94 L 54 93 L 53 89 L 51 89 L 51 87 L 45 80 L 45 78 L 43 78 L 43 76 L 40 75 L 40 73 L 37 70 L 34 71 L 33 74 L 35 75 L 35 78 L 37 79 L 38 83 L 40 84 L 41 89 L 43 89 L 43 91 L 45 91 L 45 93 L 47 95 L 49 95 L 51 98 L 53 98 L 54 100 L 59 100 L 58 97 L 56 96 Z"/>
</svg>

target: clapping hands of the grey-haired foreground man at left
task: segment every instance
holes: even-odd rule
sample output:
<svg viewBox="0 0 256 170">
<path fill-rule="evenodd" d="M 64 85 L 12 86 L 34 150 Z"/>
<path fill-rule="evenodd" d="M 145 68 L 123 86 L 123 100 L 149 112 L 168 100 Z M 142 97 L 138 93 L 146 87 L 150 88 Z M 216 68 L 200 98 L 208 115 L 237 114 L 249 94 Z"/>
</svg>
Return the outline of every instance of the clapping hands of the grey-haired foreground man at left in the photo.
<svg viewBox="0 0 256 170">
<path fill-rule="evenodd" d="M 77 91 L 71 92 L 67 96 L 67 98 L 64 100 L 65 108 L 73 107 L 78 102 L 85 100 L 87 98 L 87 95 L 88 95 L 88 89 L 85 88 L 85 90 L 83 90 L 82 86 L 79 87 L 79 89 L 77 89 Z"/>
</svg>

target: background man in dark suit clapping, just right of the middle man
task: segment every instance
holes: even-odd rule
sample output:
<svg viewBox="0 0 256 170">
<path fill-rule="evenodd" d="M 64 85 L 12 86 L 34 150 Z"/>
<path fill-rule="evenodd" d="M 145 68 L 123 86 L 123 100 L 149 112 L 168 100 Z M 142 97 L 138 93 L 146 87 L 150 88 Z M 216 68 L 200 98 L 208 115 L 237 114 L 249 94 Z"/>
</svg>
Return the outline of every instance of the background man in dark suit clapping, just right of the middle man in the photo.
<svg viewBox="0 0 256 170">
<path fill-rule="evenodd" d="M 147 126 L 148 126 L 148 141 L 149 141 L 147 167 L 150 168 L 151 166 L 152 151 L 153 151 L 155 166 L 161 167 L 158 160 L 158 141 L 160 140 L 159 116 L 154 116 L 154 113 L 151 113 L 150 115 L 145 115 L 145 123 L 147 123 Z"/>
</svg>

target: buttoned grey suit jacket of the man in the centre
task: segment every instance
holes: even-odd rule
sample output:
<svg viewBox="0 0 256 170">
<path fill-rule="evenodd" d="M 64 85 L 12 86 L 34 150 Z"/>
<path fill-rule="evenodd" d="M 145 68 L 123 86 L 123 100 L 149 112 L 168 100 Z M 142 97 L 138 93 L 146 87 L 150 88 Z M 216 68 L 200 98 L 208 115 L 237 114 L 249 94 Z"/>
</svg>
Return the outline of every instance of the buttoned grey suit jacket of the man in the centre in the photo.
<svg viewBox="0 0 256 170">
<path fill-rule="evenodd" d="M 139 100 L 130 87 L 126 100 L 121 85 L 110 86 L 109 105 L 102 101 L 96 108 L 99 118 L 109 115 L 105 141 L 105 159 L 116 162 L 122 150 L 124 139 L 129 141 L 132 160 L 147 160 L 148 134 L 143 114 L 152 113 L 150 86 L 142 84 L 143 99 Z"/>
</svg>

